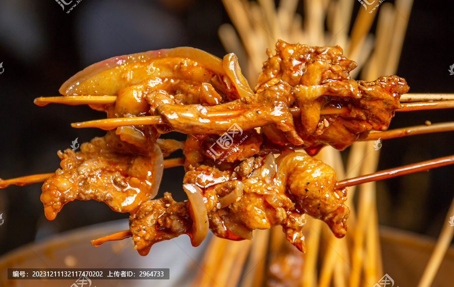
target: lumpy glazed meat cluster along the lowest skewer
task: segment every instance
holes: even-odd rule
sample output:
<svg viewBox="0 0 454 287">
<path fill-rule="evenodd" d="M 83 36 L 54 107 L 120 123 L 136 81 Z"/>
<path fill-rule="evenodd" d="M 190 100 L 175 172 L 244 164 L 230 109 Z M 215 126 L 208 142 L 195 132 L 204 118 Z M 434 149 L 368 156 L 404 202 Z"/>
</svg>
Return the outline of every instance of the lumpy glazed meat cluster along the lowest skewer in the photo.
<svg viewBox="0 0 454 287">
<path fill-rule="evenodd" d="M 335 189 L 335 172 L 329 166 L 303 153 L 287 153 L 277 163 L 269 154 L 265 158 L 245 160 L 237 167 L 236 171 L 221 171 L 205 165 L 191 166 L 184 186 L 194 186 L 203 199 L 192 212 L 190 201 L 186 201 L 186 207 L 178 205 L 178 208 L 173 207 L 177 203 L 164 203 L 165 199 L 144 203 L 130 219 L 136 248 L 148 252 L 152 244 L 161 240 L 181 234 L 195 237 L 194 226 L 200 225 L 203 219 L 195 219 L 194 214 L 204 212 L 209 229 L 220 238 L 252 239 L 254 229 L 281 225 L 287 240 L 303 252 L 305 214 L 323 220 L 337 237 L 345 235 L 350 213 L 344 205 L 346 190 Z M 161 215 L 150 227 L 149 221 L 143 218 L 154 213 Z M 172 219 L 166 221 L 169 214 L 173 214 Z M 182 221 L 174 223 L 174 219 Z M 175 225 L 178 228 L 171 230 Z M 145 235 L 147 232 L 151 236 Z"/>
</svg>

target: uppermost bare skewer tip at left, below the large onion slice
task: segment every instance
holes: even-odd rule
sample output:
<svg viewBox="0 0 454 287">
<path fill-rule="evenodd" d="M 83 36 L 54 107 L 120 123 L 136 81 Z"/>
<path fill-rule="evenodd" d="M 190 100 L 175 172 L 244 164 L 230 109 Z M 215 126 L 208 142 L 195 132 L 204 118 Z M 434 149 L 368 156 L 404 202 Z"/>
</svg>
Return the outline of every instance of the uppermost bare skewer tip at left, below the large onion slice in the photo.
<svg viewBox="0 0 454 287">
<path fill-rule="evenodd" d="M 115 104 L 117 96 L 63 96 L 63 97 L 39 97 L 33 103 L 38 106 L 47 104 L 86 105 L 86 104 Z"/>
</svg>

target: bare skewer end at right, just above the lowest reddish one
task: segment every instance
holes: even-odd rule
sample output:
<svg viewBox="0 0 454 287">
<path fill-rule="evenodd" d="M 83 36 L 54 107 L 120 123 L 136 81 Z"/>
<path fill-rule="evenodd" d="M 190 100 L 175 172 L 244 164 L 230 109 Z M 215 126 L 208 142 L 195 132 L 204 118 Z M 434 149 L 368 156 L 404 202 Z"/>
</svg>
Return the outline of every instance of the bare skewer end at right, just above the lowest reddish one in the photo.
<svg viewBox="0 0 454 287">
<path fill-rule="evenodd" d="M 388 139 L 396 138 L 408 135 L 424 134 L 424 133 L 433 133 L 433 132 L 442 132 L 442 131 L 452 131 L 454 130 L 454 122 L 442 122 L 434 123 L 431 125 L 415 125 L 404 128 L 390 129 L 387 131 L 375 131 L 369 133 L 366 138 L 359 139 L 360 141 L 365 140 L 376 140 L 378 138 Z"/>
</svg>

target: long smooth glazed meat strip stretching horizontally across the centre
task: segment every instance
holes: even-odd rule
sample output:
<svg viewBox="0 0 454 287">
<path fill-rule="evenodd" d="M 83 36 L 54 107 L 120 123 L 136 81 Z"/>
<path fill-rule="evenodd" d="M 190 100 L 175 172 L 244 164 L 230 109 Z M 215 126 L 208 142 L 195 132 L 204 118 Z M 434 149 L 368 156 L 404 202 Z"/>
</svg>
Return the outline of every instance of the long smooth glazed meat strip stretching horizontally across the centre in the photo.
<svg viewBox="0 0 454 287">
<path fill-rule="evenodd" d="M 221 135 L 235 123 L 243 130 L 274 123 L 280 130 L 287 132 L 293 143 L 301 145 L 303 141 L 295 131 L 294 119 L 289 110 L 292 102 L 291 87 L 286 83 L 278 83 L 259 94 L 211 107 L 162 104 L 155 115 L 163 117 L 172 129 L 188 134 Z"/>
</svg>

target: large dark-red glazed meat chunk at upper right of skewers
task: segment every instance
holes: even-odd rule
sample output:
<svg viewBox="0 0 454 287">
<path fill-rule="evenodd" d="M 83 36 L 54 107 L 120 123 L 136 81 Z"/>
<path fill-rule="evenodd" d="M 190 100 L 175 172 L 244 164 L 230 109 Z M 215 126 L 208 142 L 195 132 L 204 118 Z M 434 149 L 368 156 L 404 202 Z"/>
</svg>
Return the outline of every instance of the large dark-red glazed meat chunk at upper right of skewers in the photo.
<svg viewBox="0 0 454 287">
<path fill-rule="evenodd" d="M 343 150 L 370 130 L 386 130 L 394 111 L 401 107 L 400 96 L 409 90 L 405 80 L 396 76 L 374 82 L 350 79 L 357 64 L 339 46 L 278 41 L 276 54 L 267 53 L 256 93 L 281 82 L 292 87 L 290 97 L 295 101 L 290 107 L 301 110 L 300 120 L 295 119 L 296 130 L 312 155 L 325 145 Z M 274 123 L 262 129 L 274 141 L 288 138 Z"/>
</svg>

